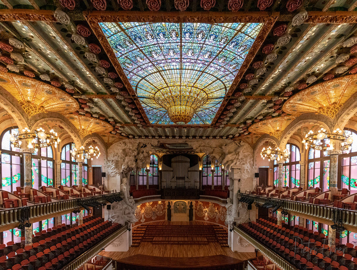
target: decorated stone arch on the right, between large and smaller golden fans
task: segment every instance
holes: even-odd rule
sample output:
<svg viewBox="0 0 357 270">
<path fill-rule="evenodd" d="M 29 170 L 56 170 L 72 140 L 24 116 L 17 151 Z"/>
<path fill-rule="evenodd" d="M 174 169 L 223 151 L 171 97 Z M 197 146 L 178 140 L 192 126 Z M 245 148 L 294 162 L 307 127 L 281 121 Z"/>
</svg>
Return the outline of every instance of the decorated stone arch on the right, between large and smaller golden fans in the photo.
<svg viewBox="0 0 357 270">
<path fill-rule="evenodd" d="M 295 118 L 288 128 L 286 128 L 279 140 L 279 148 L 285 149 L 285 146 L 290 137 L 303 125 L 306 124 L 318 124 L 323 126 L 326 130 L 331 130 L 333 127 L 333 121 L 330 117 L 323 114 L 306 113 Z"/>
</svg>

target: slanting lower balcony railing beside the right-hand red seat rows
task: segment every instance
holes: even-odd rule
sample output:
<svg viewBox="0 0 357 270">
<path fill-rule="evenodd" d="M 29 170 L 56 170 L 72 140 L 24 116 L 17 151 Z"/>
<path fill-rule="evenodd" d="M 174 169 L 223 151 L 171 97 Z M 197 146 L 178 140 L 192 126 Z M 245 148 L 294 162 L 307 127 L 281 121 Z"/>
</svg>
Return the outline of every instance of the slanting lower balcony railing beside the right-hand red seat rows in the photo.
<svg viewBox="0 0 357 270">
<path fill-rule="evenodd" d="M 252 238 L 250 235 L 246 234 L 243 232 L 240 228 L 234 226 L 233 230 L 235 233 L 237 233 L 240 237 L 245 239 L 247 242 L 249 242 L 252 246 L 254 246 L 256 249 L 258 249 L 262 254 L 267 256 L 273 263 L 275 263 L 277 266 L 279 266 L 281 269 L 284 270 L 296 270 L 296 268 L 288 263 L 286 259 L 280 257 L 278 254 L 276 254 L 274 251 L 266 247 L 265 245 L 261 244 L 254 238 Z M 255 269 L 255 268 L 254 268 Z"/>
</svg>

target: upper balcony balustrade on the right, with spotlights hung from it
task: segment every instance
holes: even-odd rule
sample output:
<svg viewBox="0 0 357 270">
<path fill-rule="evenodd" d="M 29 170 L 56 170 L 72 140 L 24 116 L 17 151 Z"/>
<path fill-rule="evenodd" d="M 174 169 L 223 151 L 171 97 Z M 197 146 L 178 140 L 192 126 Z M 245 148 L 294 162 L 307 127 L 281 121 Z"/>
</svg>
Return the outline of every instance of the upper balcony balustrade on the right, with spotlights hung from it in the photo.
<svg viewBox="0 0 357 270">
<path fill-rule="evenodd" d="M 357 228 L 357 211 L 350 209 L 341 209 L 336 207 L 324 206 L 320 204 L 311 204 L 306 202 L 296 202 L 285 199 L 268 198 L 263 196 L 257 196 L 252 194 L 240 193 L 241 196 L 247 196 L 254 199 L 256 203 L 264 204 L 266 202 L 271 202 L 275 205 L 280 205 L 280 208 L 288 212 L 295 212 L 313 217 L 328 220 L 330 223 L 336 219 L 335 215 L 337 212 L 338 219 L 341 218 L 342 223 L 348 227 Z"/>
</svg>

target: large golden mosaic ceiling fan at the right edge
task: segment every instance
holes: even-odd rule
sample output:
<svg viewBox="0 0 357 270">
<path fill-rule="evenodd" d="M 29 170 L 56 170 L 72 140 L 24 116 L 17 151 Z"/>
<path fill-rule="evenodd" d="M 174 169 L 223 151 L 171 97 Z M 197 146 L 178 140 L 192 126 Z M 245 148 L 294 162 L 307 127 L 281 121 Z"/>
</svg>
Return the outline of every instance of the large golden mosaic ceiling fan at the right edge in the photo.
<svg viewBox="0 0 357 270">
<path fill-rule="evenodd" d="M 283 105 L 283 111 L 289 114 L 321 113 L 334 118 L 356 92 L 357 74 L 332 79 L 293 95 Z"/>
</svg>

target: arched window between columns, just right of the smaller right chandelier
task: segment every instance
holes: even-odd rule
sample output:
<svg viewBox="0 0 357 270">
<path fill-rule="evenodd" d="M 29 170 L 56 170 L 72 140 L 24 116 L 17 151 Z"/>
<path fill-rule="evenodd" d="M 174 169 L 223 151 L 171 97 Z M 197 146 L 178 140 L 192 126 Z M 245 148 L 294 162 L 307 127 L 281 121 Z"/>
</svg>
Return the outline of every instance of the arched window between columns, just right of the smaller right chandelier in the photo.
<svg viewBox="0 0 357 270">
<path fill-rule="evenodd" d="M 283 164 L 283 186 L 300 187 L 300 149 L 295 144 L 286 144 L 289 159 Z"/>
</svg>

